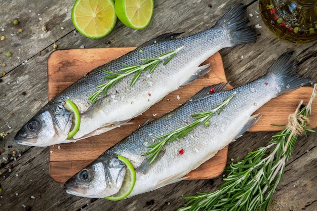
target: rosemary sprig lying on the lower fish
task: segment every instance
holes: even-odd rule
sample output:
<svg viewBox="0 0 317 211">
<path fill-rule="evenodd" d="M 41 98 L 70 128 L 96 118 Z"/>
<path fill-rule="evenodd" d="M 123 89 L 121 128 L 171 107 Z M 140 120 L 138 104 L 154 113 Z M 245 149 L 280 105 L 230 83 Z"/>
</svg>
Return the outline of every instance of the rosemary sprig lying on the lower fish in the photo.
<svg viewBox="0 0 317 211">
<path fill-rule="evenodd" d="M 147 158 L 151 159 L 150 163 L 152 163 L 155 158 L 157 157 L 157 155 L 159 155 L 159 153 L 162 151 L 163 147 L 168 143 L 168 142 L 173 142 L 176 139 L 181 139 L 184 136 L 186 136 L 192 129 L 196 128 L 197 125 L 199 125 L 200 123 L 204 122 L 206 126 L 209 125 L 208 120 L 214 115 L 214 113 L 216 113 L 218 110 L 218 115 L 220 114 L 220 112 L 224 109 L 224 107 L 229 103 L 229 101 L 233 98 L 233 96 L 236 94 L 236 92 L 234 92 L 232 95 L 230 95 L 228 98 L 226 98 L 225 100 L 222 101 L 222 103 L 216 104 L 214 106 L 217 106 L 216 108 L 214 108 L 211 111 L 205 111 L 205 112 L 200 112 L 200 113 L 196 113 L 196 114 L 192 114 L 191 116 L 196 119 L 192 122 L 190 122 L 189 124 L 186 124 L 184 126 L 181 126 L 180 128 L 176 129 L 175 131 L 172 131 L 168 134 L 156 137 L 155 139 L 153 139 L 153 141 L 157 140 L 157 139 L 162 139 L 161 141 L 154 143 L 150 146 L 148 146 L 148 148 L 151 148 L 148 152 L 146 152 L 144 155 L 149 155 Z"/>
</svg>

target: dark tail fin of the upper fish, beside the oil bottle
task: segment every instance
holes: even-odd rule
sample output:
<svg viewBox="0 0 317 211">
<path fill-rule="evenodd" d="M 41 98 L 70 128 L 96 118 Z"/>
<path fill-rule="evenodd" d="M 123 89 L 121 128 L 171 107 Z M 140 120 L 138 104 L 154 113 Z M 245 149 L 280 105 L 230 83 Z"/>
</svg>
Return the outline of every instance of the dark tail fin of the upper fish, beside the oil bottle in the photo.
<svg viewBox="0 0 317 211">
<path fill-rule="evenodd" d="M 246 26 L 249 23 L 247 18 L 247 6 L 238 4 L 229 9 L 220 18 L 216 25 L 220 25 L 229 32 L 231 46 L 253 43 L 257 40 L 257 34 L 252 26 Z"/>
</svg>

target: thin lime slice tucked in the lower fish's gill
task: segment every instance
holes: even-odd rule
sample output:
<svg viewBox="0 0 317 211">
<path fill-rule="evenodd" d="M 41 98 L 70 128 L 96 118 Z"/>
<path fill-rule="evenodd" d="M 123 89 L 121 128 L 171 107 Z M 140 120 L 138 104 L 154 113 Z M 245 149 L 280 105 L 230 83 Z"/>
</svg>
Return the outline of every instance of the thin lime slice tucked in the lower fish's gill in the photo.
<svg viewBox="0 0 317 211">
<path fill-rule="evenodd" d="M 116 194 L 113 194 L 112 196 L 105 197 L 105 199 L 108 199 L 111 201 L 118 201 L 118 200 L 126 198 L 131 193 L 135 184 L 136 175 L 135 175 L 135 170 L 132 163 L 127 158 L 120 155 L 118 155 L 118 159 L 126 164 L 127 171 L 126 171 L 125 178 L 120 190 Z"/>
</svg>

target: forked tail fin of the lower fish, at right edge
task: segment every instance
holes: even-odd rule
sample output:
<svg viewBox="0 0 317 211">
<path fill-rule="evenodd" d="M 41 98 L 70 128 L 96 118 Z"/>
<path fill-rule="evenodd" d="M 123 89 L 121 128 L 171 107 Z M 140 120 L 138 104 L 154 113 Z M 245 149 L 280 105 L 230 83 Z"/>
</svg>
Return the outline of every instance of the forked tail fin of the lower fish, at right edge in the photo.
<svg viewBox="0 0 317 211">
<path fill-rule="evenodd" d="M 296 72 L 297 68 L 295 60 L 291 60 L 293 52 L 282 54 L 276 61 L 268 68 L 266 74 L 273 74 L 280 86 L 280 94 L 290 92 L 299 87 L 313 82 L 310 78 L 300 78 Z"/>
</svg>

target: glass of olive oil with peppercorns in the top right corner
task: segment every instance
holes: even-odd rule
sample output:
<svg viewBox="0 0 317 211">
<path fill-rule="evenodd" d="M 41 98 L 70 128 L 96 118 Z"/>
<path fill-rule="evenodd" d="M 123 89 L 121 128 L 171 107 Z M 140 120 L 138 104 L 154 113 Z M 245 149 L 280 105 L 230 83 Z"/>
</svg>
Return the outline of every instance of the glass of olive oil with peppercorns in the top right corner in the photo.
<svg viewBox="0 0 317 211">
<path fill-rule="evenodd" d="M 260 0 L 260 13 L 280 38 L 293 43 L 317 39 L 317 0 Z"/>
</svg>

